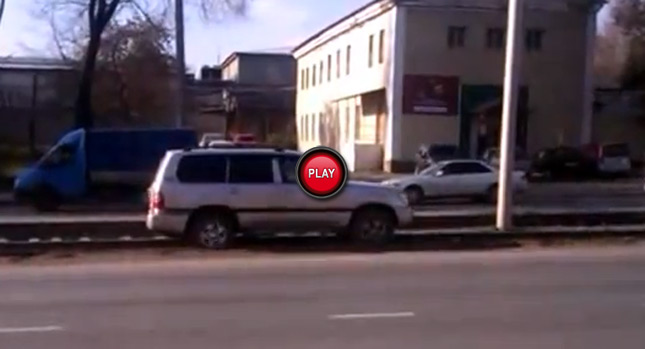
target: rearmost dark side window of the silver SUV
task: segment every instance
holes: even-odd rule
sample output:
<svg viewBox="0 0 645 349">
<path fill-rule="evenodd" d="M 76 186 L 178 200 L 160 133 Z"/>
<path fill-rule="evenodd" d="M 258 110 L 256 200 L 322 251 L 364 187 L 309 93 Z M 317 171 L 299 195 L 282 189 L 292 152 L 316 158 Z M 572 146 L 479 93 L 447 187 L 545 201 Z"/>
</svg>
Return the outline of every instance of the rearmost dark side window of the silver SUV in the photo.
<svg viewBox="0 0 645 349">
<path fill-rule="evenodd" d="M 222 155 L 186 155 L 177 165 L 177 179 L 182 183 L 226 182 L 226 157 Z"/>
</svg>

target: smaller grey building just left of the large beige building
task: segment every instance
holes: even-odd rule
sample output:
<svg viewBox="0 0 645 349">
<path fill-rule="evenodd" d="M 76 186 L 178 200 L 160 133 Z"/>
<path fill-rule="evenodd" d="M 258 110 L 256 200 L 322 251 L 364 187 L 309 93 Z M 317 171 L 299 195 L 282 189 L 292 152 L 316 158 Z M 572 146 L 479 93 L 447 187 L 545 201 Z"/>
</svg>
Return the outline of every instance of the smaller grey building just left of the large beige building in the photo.
<svg viewBox="0 0 645 349">
<path fill-rule="evenodd" d="M 291 54 L 234 52 L 221 64 L 229 133 L 295 137 L 296 61 Z"/>
</svg>

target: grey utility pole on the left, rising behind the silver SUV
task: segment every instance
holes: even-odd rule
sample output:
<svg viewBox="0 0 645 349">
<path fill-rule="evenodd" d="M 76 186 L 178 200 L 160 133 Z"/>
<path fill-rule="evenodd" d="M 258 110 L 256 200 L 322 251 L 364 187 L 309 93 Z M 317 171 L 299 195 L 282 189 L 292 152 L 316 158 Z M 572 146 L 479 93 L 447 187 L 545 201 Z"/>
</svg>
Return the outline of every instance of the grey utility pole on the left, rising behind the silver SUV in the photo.
<svg viewBox="0 0 645 349">
<path fill-rule="evenodd" d="M 186 91 L 186 53 L 184 52 L 184 0 L 175 0 L 175 59 L 177 61 L 177 93 L 175 126 L 184 126 L 184 93 Z"/>
</svg>

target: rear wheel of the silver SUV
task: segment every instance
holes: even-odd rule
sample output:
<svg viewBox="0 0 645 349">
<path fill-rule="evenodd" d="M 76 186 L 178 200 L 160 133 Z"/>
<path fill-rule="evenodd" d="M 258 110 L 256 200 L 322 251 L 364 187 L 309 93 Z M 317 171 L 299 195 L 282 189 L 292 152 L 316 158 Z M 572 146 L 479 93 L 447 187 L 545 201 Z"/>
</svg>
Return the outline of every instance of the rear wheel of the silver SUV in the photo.
<svg viewBox="0 0 645 349">
<path fill-rule="evenodd" d="M 224 250 L 235 237 L 233 219 L 223 212 L 198 213 L 188 226 L 190 242 L 211 250 Z"/>
</svg>

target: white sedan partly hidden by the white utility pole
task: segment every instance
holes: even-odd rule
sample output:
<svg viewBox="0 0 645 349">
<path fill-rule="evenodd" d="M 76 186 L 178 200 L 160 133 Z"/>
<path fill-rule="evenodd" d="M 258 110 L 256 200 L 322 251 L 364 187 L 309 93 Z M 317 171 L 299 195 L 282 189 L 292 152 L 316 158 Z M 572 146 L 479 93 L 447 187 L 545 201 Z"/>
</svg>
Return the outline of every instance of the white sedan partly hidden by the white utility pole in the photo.
<svg viewBox="0 0 645 349">
<path fill-rule="evenodd" d="M 384 181 L 405 192 L 410 204 L 425 198 L 468 197 L 477 201 L 497 201 L 497 169 L 479 160 L 446 160 L 438 162 L 419 174 Z M 525 173 L 513 172 L 513 192 L 527 187 Z"/>
</svg>

